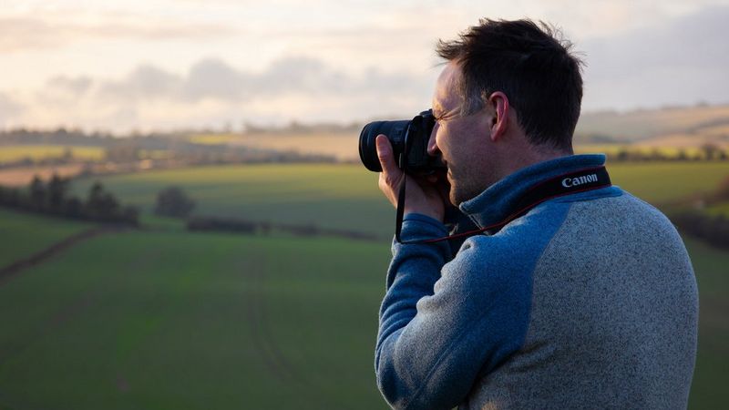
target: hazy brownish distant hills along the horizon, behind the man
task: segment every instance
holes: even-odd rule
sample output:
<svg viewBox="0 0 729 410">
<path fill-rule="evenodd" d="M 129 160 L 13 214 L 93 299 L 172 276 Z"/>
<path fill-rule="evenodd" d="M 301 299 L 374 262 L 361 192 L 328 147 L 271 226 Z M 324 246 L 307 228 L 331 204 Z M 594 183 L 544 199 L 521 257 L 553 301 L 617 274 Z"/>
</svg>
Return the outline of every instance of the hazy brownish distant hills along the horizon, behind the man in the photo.
<svg viewBox="0 0 729 410">
<path fill-rule="evenodd" d="M 392 118 L 406 118 L 394 116 Z M 246 124 L 244 132 L 230 129 L 178 130 L 126 136 L 86 134 L 81 130 L 0 130 L 0 149 L 18 145 L 124 148 L 185 155 L 245 155 L 282 153 L 324 155 L 359 160 L 358 141 L 364 123 L 301 124 L 272 128 Z M 628 112 L 583 112 L 574 136 L 577 149 L 702 149 L 711 144 L 729 149 L 729 105 L 639 109 Z M 608 147 L 609 146 L 609 147 Z"/>
</svg>

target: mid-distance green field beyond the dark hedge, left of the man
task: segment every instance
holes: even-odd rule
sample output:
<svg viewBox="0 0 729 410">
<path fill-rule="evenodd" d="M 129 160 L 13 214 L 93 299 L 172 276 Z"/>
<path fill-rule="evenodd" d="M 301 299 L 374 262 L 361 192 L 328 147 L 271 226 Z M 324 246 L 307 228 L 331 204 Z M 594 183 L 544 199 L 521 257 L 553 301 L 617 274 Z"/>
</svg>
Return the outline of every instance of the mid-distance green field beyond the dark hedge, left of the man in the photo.
<svg viewBox="0 0 729 410">
<path fill-rule="evenodd" d="M 73 190 L 86 195 L 96 179 Z M 237 165 L 150 171 L 100 179 L 104 187 L 150 212 L 159 190 L 180 186 L 195 214 L 312 224 L 392 236 L 395 214 L 377 190 L 377 175 L 354 165 Z"/>
</svg>

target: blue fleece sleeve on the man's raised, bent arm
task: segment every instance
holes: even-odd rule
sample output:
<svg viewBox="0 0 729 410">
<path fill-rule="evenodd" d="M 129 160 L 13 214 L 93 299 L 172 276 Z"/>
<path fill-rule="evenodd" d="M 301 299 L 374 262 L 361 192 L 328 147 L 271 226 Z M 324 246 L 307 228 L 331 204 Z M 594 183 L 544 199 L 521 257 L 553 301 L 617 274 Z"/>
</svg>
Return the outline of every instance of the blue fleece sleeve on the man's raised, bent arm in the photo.
<svg viewBox="0 0 729 410">
<path fill-rule="evenodd" d="M 403 240 L 446 234 L 422 215 L 402 231 Z M 535 258 L 500 242 L 471 238 L 449 262 L 445 242 L 394 243 L 375 348 L 377 385 L 394 408 L 452 408 L 523 344 Z"/>
</svg>

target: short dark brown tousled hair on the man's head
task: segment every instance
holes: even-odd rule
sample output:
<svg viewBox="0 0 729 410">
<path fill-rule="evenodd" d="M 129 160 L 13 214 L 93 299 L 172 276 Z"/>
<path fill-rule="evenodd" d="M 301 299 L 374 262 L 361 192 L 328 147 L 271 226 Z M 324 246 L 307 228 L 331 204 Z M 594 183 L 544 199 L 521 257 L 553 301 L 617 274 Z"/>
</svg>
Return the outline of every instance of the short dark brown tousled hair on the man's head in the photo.
<svg viewBox="0 0 729 410">
<path fill-rule="evenodd" d="M 463 72 L 463 114 L 477 112 L 501 91 L 532 144 L 571 152 L 582 100 L 582 62 L 571 47 L 543 22 L 482 19 L 457 40 L 438 40 L 436 52 Z"/>
</svg>

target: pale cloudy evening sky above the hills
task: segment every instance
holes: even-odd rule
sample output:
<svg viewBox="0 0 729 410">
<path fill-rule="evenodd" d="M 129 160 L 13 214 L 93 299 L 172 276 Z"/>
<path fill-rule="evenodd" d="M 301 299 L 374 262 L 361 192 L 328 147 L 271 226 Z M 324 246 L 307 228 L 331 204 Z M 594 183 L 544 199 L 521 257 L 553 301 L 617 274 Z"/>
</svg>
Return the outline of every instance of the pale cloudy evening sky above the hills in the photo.
<svg viewBox="0 0 729 410">
<path fill-rule="evenodd" d="M 429 108 L 434 46 L 478 19 L 560 27 L 582 111 L 729 103 L 729 0 L 3 0 L 0 128 L 349 123 Z"/>
</svg>

